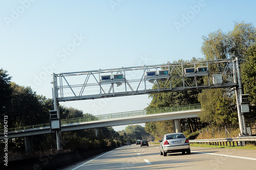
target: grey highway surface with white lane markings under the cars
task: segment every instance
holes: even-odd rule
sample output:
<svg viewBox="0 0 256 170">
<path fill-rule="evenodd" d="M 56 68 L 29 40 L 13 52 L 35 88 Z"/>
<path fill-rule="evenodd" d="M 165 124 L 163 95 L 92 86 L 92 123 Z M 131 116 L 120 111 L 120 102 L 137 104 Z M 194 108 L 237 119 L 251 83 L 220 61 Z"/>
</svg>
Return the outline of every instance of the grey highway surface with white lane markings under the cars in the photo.
<svg viewBox="0 0 256 170">
<path fill-rule="evenodd" d="M 97 155 L 62 170 L 81 169 L 255 169 L 256 151 L 191 147 L 190 155 L 160 155 L 159 145 L 132 144 Z"/>
</svg>

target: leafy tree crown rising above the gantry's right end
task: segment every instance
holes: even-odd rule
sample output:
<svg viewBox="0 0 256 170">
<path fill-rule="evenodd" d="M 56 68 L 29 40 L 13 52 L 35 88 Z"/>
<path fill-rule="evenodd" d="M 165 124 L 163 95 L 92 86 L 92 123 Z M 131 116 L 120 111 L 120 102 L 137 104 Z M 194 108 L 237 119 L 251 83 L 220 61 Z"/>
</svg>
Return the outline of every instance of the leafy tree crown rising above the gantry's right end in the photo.
<svg viewBox="0 0 256 170">
<path fill-rule="evenodd" d="M 252 23 L 235 22 L 228 33 L 222 30 L 203 36 L 201 51 L 206 60 L 238 57 L 244 59 L 249 47 L 256 42 L 256 29 Z"/>
</svg>

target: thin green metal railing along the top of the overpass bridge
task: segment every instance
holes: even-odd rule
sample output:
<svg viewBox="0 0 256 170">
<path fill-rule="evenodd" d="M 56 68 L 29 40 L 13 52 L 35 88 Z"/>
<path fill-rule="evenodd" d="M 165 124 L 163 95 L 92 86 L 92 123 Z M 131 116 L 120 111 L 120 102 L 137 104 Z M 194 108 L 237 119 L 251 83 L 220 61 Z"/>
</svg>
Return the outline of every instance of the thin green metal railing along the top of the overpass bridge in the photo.
<svg viewBox="0 0 256 170">
<path fill-rule="evenodd" d="M 163 107 L 163 108 L 157 108 L 157 109 L 137 110 L 137 111 L 130 111 L 130 112 L 111 113 L 111 114 L 102 114 L 102 115 L 95 115 L 95 116 L 62 119 L 62 120 L 60 120 L 60 124 L 66 125 L 66 124 L 74 124 L 74 123 L 82 123 L 82 122 L 91 122 L 91 121 L 95 121 L 95 120 L 131 117 L 131 116 L 138 116 L 138 115 L 145 115 L 145 114 L 157 114 L 157 113 L 167 113 L 167 112 L 176 112 L 176 111 L 185 111 L 185 110 L 196 110 L 196 109 L 201 109 L 201 108 L 202 108 L 201 104 Z M 50 123 L 10 128 L 10 129 L 8 129 L 8 132 L 17 131 L 17 130 L 42 128 L 42 127 L 48 127 L 48 126 L 50 126 Z M 0 130 L 0 133 L 3 133 L 3 132 L 4 132 L 4 130 Z"/>
</svg>

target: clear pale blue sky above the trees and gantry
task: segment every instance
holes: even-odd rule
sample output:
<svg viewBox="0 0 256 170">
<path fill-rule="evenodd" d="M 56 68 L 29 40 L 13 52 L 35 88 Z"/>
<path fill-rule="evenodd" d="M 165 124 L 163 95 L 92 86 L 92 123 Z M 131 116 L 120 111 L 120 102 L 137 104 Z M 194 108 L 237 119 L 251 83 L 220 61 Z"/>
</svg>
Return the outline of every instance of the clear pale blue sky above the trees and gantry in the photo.
<svg viewBox="0 0 256 170">
<path fill-rule="evenodd" d="M 256 1 L 1 0 L 0 67 L 18 85 L 52 98 L 52 72 L 201 58 L 203 35 L 230 31 L 234 21 L 255 26 L 255 7 Z M 60 104 L 97 115 L 150 102 L 136 95 Z"/>
</svg>

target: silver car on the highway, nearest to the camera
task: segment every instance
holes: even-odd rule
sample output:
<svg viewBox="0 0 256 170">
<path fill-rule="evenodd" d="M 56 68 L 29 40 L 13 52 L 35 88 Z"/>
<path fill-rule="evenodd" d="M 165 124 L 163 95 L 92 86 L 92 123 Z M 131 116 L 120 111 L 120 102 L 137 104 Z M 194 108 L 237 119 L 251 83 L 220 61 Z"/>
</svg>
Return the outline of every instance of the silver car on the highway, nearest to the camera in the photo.
<svg viewBox="0 0 256 170">
<path fill-rule="evenodd" d="M 160 155 L 166 156 L 167 153 L 182 152 L 190 154 L 190 145 L 188 139 L 183 133 L 165 134 L 162 140 L 159 140 Z"/>
</svg>

